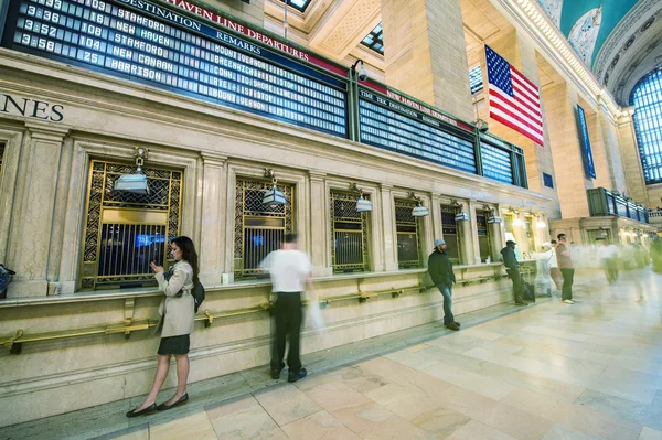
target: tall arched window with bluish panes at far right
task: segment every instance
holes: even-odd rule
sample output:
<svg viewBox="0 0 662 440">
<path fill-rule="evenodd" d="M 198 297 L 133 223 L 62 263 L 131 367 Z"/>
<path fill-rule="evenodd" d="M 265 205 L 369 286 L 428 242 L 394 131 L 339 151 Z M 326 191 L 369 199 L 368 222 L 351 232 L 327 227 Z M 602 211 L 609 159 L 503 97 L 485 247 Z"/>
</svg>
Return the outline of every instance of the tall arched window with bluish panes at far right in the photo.
<svg viewBox="0 0 662 440">
<path fill-rule="evenodd" d="M 630 95 L 645 183 L 662 183 L 662 68 L 637 83 Z"/>
</svg>

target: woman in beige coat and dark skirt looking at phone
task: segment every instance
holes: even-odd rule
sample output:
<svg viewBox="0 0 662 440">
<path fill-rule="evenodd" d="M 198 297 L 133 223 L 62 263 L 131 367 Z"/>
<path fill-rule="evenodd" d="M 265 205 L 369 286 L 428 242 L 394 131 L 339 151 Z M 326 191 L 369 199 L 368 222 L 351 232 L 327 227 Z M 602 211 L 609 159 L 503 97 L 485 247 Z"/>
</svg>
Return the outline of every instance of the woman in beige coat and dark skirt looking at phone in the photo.
<svg viewBox="0 0 662 440">
<path fill-rule="evenodd" d="M 186 394 L 186 379 L 189 377 L 189 345 L 190 334 L 193 332 L 194 299 L 193 288 L 197 280 L 197 253 L 189 237 L 177 237 L 170 244 L 172 257 L 177 261 L 169 271 L 170 277 L 163 272 L 161 266 L 151 264 L 154 277 L 159 282 L 159 290 L 166 293 L 166 298 L 159 307 L 161 319 L 157 331 L 161 332 L 161 343 L 157 359 L 157 374 L 152 389 L 138 408 L 127 412 L 127 417 L 137 417 L 153 414 L 156 410 L 166 410 L 189 400 Z M 157 396 L 168 377 L 170 368 L 170 356 L 177 359 L 177 391 L 169 400 L 157 406 Z"/>
</svg>

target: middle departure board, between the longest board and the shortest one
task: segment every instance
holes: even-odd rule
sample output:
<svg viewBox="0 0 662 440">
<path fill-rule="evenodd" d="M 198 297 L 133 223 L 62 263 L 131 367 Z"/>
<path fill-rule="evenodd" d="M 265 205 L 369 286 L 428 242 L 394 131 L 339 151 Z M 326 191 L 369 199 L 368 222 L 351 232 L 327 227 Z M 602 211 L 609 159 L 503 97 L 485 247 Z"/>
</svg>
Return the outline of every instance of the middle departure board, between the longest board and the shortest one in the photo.
<svg viewBox="0 0 662 440">
<path fill-rule="evenodd" d="M 418 159 L 476 174 L 476 152 L 470 137 L 442 129 L 425 114 L 366 89 L 360 89 L 361 141 Z"/>
</svg>

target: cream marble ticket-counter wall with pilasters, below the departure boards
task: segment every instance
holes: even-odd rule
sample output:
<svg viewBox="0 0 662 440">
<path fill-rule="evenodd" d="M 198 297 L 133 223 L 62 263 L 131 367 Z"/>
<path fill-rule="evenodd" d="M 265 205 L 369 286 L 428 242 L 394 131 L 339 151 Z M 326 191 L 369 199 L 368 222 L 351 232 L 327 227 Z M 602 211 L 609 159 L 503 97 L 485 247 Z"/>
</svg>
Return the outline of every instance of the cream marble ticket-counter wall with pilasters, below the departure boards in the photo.
<svg viewBox="0 0 662 440">
<path fill-rule="evenodd" d="M 17 270 L 9 299 L 0 301 L 0 336 L 86 329 L 96 335 L 26 343 L 22 354 L 0 354 L 0 426 L 143 394 L 152 378 L 158 339 L 148 330 L 113 334 L 117 326 L 157 318 L 151 289 L 78 292 L 82 237 L 92 160 L 131 163 L 136 147 L 149 149 L 147 164 L 183 173 L 181 233 L 193 237 L 207 287 L 204 309 L 213 313 L 258 307 L 264 282 L 222 285 L 234 271 L 234 182 L 277 170 L 296 187 L 295 223 L 312 256 L 317 290 L 332 298 L 383 292 L 360 303 L 332 302 L 327 330 L 307 330 L 305 352 L 348 344 L 440 318 L 440 297 L 419 293 L 424 269 L 397 270 L 393 201 L 409 191 L 433 215 L 421 222 L 421 260 L 441 235 L 440 204 L 458 201 L 470 222 L 461 225 L 462 283 L 456 312 L 511 299 L 510 281 L 494 280 L 502 266 L 477 265 L 476 211 L 526 206 L 545 213 L 551 197 L 533 191 L 404 158 L 356 142 L 221 108 L 47 60 L 0 50 L 3 93 L 62 106 L 61 121 L 2 114 L 7 151 L 0 181 L 0 257 Z M 373 213 L 371 272 L 332 276 L 328 196 L 356 182 L 370 194 Z M 10 232 L 10 233 L 9 233 Z M 503 243 L 493 225 L 492 254 Z M 423 262 L 423 261 L 421 261 Z M 492 277 L 492 278 L 490 278 Z M 62 294 L 54 293 L 55 280 Z M 232 281 L 232 277 L 229 277 Z M 412 289 L 409 289 L 412 288 Z M 398 298 L 391 291 L 404 290 Z M 11 312 L 10 312 L 11 311 Z M 96 330 L 95 330 L 96 329 Z M 99 330 L 100 329 L 100 330 Z M 196 324 L 191 380 L 264 365 L 270 323 L 266 312 Z M 170 378 L 169 380 L 172 380 Z M 171 384 L 171 382 L 169 383 Z"/>
</svg>

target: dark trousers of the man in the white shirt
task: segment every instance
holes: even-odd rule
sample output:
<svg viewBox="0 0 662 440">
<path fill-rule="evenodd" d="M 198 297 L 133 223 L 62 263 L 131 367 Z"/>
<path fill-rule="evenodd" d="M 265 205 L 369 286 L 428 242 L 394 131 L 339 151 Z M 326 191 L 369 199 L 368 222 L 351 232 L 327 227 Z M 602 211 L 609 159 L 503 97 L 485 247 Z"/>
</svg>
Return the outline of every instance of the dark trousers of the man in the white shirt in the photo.
<svg viewBox="0 0 662 440">
<path fill-rule="evenodd" d="M 299 373 L 301 359 L 299 358 L 299 340 L 301 336 L 301 293 L 280 292 L 276 293 L 276 305 L 274 319 L 276 321 L 276 336 L 271 350 L 271 369 L 282 369 L 285 363 L 285 341 L 289 340 L 290 346 L 287 354 L 287 366 L 289 374 Z"/>
</svg>

